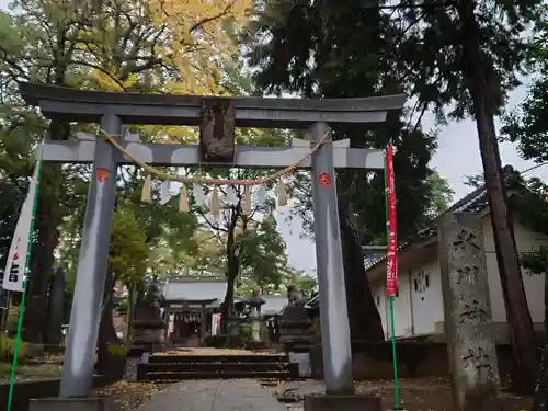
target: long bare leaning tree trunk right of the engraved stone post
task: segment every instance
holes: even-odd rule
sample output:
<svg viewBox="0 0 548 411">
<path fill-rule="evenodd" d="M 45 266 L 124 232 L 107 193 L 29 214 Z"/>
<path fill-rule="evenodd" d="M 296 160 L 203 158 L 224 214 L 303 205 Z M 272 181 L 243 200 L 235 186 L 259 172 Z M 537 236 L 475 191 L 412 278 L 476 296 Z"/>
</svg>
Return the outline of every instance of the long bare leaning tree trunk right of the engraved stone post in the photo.
<svg viewBox="0 0 548 411">
<path fill-rule="evenodd" d="M 500 87 L 493 84 L 493 79 L 489 76 L 489 68 L 486 67 L 488 62 L 481 55 L 475 7 L 473 1 L 461 1 L 457 7 L 463 23 L 464 61 L 466 61 L 464 76 L 473 101 L 481 160 L 486 175 L 509 336 L 515 361 L 514 370 L 516 374 L 513 383 L 518 392 L 530 393 L 534 390 L 538 370 L 536 341 L 523 286 L 512 216 L 507 208 L 494 127 L 494 115 L 500 101 Z"/>
</svg>

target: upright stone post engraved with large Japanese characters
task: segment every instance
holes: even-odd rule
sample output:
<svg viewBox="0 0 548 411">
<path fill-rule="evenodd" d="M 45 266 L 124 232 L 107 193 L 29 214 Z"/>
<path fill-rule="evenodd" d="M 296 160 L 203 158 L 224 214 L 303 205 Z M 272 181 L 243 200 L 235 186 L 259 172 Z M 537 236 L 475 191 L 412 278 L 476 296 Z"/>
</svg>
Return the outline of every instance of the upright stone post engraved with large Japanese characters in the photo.
<svg viewBox="0 0 548 411">
<path fill-rule="evenodd" d="M 456 410 L 499 411 L 499 367 L 480 216 L 446 213 L 438 222 L 438 242 Z"/>
</svg>

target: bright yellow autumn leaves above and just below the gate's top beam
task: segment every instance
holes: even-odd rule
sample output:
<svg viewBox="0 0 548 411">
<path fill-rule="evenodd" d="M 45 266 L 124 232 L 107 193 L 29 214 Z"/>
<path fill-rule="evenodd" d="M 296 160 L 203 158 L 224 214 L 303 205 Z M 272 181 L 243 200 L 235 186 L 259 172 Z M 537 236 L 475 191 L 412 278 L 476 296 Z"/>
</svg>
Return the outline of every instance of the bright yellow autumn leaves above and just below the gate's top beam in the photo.
<svg viewBox="0 0 548 411">
<path fill-rule="evenodd" d="M 239 62 L 239 27 L 252 0 L 111 0 L 82 46 L 91 76 L 107 91 L 222 95 L 227 67 Z M 191 142 L 190 127 L 141 126 L 156 141 Z M 169 136 L 169 137 L 167 137 Z"/>
</svg>

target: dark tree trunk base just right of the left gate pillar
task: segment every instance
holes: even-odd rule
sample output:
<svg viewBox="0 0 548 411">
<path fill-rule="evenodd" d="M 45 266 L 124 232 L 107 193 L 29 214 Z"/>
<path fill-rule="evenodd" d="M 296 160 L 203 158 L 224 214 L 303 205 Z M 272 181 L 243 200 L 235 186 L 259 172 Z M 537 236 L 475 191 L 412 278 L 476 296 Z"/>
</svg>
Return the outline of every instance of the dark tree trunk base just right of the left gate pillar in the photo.
<svg viewBox="0 0 548 411">
<path fill-rule="evenodd" d="M 113 279 L 107 275 L 105 282 L 105 293 L 103 296 L 103 309 L 101 312 L 101 322 L 99 326 L 98 338 L 98 362 L 95 370 L 98 374 L 106 377 L 109 380 L 119 380 L 124 376 L 126 357 L 116 355 L 109 346 L 111 344 L 122 345 L 113 322 L 114 298 Z"/>
</svg>

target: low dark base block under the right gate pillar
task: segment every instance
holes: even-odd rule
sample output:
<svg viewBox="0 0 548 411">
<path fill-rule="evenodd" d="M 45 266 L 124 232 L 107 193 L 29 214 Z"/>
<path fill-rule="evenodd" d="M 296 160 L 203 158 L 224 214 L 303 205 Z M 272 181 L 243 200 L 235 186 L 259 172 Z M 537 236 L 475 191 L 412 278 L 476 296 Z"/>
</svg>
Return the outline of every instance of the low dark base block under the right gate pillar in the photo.
<svg viewBox="0 0 548 411">
<path fill-rule="evenodd" d="M 380 397 L 318 393 L 305 396 L 305 411 L 381 411 Z"/>
</svg>

